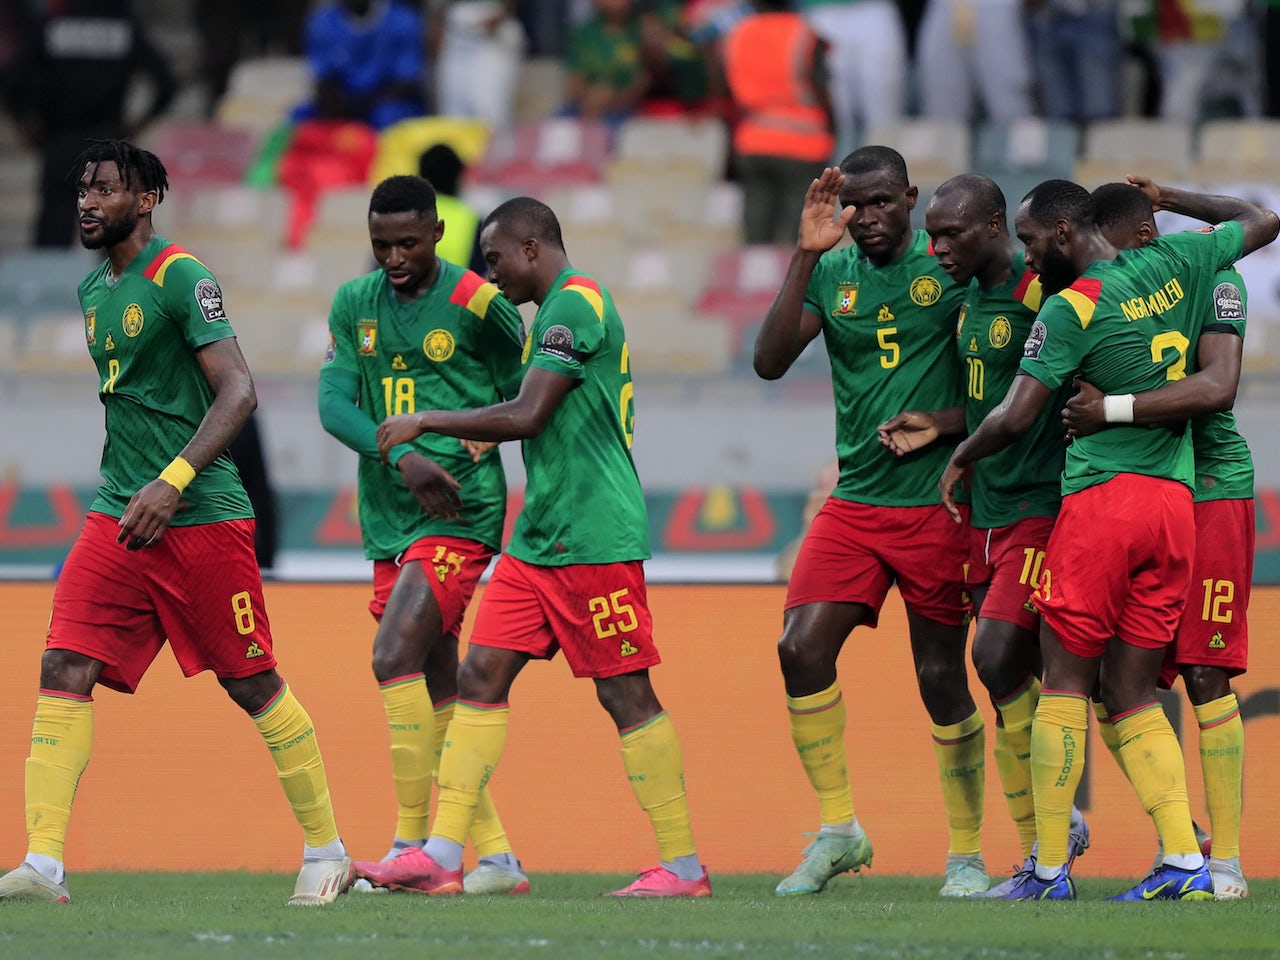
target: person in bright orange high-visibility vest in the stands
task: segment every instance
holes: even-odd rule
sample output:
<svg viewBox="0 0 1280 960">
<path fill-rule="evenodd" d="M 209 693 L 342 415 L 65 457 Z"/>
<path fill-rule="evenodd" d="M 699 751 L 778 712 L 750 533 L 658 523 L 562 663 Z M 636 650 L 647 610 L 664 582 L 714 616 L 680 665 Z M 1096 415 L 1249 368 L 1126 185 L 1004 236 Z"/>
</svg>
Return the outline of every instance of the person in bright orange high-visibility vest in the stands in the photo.
<svg viewBox="0 0 1280 960">
<path fill-rule="evenodd" d="M 805 191 L 836 148 L 826 93 L 826 44 L 787 0 L 756 0 L 723 42 L 733 100 L 733 163 L 748 243 L 788 243 Z"/>
</svg>

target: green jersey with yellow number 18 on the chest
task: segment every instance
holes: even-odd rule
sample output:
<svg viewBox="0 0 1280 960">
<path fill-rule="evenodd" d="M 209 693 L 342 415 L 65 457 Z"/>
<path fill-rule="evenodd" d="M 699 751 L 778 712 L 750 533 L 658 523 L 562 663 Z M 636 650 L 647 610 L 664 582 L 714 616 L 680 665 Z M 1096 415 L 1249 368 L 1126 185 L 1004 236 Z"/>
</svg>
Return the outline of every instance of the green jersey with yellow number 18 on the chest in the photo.
<svg viewBox="0 0 1280 960">
<path fill-rule="evenodd" d="M 392 413 L 472 410 L 520 390 L 520 312 L 498 288 L 472 271 L 439 260 L 430 289 L 397 298 L 381 270 L 338 288 L 329 312 L 329 349 L 320 369 L 326 383 L 360 407 L 361 424 L 334 430 L 360 453 L 360 532 L 370 559 L 396 557 L 428 535 L 460 536 L 497 549 L 507 509 L 507 480 L 497 448 L 479 463 L 452 436 L 428 434 L 378 454 L 378 424 Z M 321 401 L 325 426 L 334 420 Z M 338 424 L 340 426 L 340 421 Z M 461 484 L 462 511 L 453 520 L 429 517 L 404 485 L 396 463 L 416 451 Z"/>
</svg>

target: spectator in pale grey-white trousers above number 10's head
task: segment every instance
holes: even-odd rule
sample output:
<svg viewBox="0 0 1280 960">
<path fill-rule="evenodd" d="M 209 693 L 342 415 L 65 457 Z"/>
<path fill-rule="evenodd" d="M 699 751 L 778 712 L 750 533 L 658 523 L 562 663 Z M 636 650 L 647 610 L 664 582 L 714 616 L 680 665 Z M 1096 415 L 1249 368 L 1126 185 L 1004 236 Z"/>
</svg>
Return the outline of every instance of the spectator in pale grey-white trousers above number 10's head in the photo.
<svg viewBox="0 0 1280 960">
<path fill-rule="evenodd" d="M 923 116 L 1010 123 L 1032 114 L 1023 0 L 928 0 L 915 61 Z"/>
</svg>

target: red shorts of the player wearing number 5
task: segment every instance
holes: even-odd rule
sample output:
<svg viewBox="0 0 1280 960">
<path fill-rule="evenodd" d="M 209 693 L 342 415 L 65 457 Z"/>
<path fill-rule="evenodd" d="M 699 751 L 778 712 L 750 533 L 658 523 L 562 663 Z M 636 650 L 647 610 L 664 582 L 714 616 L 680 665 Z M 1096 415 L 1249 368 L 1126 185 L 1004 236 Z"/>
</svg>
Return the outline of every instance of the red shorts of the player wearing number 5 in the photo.
<svg viewBox="0 0 1280 960">
<path fill-rule="evenodd" d="M 965 524 L 951 520 L 941 504 L 873 507 L 828 497 L 800 545 L 783 609 L 864 603 L 874 627 L 896 581 L 910 611 L 940 623 L 964 623 L 969 507 L 960 509 Z"/>
</svg>

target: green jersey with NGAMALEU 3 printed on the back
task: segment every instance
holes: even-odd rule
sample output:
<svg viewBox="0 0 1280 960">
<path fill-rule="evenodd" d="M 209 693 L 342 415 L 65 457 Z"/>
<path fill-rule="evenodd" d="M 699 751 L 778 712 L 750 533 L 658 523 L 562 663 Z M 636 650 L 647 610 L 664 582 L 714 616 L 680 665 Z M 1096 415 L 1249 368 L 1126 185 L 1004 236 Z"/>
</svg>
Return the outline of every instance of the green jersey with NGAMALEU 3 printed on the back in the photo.
<svg viewBox="0 0 1280 960">
<path fill-rule="evenodd" d="M 1041 307 L 1021 369 L 1052 390 L 1080 376 L 1107 394 L 1158 389 L 1187 374 L 1206 321 L 1202 288 L 1243 248 L 1238 223 L 1176 233 L 1091 264 Z M 1190 430 L 1111 425 L 1066 449 L 1062 493 L 1142 474 L 1193 486 Z"/>
</svg>

